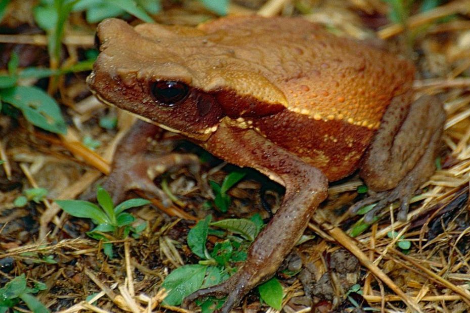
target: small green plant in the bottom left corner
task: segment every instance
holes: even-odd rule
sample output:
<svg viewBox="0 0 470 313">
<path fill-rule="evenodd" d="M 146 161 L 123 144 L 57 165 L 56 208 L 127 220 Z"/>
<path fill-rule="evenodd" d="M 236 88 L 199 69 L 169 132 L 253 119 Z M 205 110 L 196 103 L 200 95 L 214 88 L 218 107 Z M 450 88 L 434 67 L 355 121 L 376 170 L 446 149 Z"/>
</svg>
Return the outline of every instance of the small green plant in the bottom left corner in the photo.
<svg viewBox="0 0 470 313">
<path fill-rule="evenodd" d="M 26 276 L 21 274 L 0 288 L 0 313 L 7 313 L 10 308 L 16 306 L 22 300 L 34 313 L 48 313 L 49 309 L 39 302 L 31 293 L 45 290 L 47 287 L 42 283 L 35 283 L 33 288 L 26 285 Z M 15 310 L 16 312 L 16 310 Z"/>
</svg>

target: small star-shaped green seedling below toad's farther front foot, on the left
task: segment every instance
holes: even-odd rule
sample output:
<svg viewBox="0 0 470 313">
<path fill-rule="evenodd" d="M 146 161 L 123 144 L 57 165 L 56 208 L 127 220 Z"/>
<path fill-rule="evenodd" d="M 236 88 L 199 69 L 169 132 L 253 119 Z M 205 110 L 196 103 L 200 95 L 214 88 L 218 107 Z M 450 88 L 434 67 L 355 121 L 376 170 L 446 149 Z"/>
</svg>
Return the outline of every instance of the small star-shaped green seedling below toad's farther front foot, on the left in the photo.
<svg viewBox="0 0 470 313">
<path fill-rule="evenodd" d="M 103 240 L 103 250 L 109 257 L 113 257 L 113 248 L 109 241 L 107 233 L 111 233 L 116 238 L 126 238 L 132 235 L 138 237 L 146 227 L 147 223 L 143 222 L 136 226 L 132 226 L 135 218 L 124 212 L 131 207 L 149 204 L 150 201 L 142 198 L 135 198 L 124 201 L 114 206 L 109 193 L 99 187 L 97 190 L 97 200 L 99 206 L 82 200 L 55 200 L 65 212 L 77 218 L 91 219 L 97 226 L 86 234 L 97 240 Z"/>
</svg>

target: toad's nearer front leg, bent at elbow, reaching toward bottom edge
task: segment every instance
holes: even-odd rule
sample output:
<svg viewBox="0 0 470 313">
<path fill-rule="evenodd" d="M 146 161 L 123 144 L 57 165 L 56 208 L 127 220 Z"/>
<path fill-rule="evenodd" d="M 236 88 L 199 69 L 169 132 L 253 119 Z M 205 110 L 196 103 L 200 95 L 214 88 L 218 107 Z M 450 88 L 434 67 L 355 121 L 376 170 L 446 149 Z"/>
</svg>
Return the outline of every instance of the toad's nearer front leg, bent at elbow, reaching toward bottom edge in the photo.
<svg viewBox="0 0 470 313">
<path fill-rule="evenodd" d="M 220 285 L 186 297 L 185 304 L 208 295 L 227 296 L 221 309 L 228 312 L 243 296 L 271 278 L 299 240 L 318 204 L 326 198 L 327 179 L 320 170 L 303 163 L 255 131 L 239 131 L 222 123 L 205 147 L 229 156 L 229 162 L 252 167 L 286 187 L 283 203 L 258 235 L 242 268 Z"/>
</svg>

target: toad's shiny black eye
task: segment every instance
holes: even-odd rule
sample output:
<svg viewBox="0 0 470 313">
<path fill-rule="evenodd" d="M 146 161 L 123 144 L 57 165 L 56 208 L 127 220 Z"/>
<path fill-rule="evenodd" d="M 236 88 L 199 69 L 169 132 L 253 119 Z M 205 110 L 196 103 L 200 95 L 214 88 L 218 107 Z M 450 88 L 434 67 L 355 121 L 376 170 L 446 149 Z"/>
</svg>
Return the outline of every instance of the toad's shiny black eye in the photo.
<svg viewBox="0 0 470 313">
<path fill-rule="evenodd" d="M 178 105 L 189 93 L 186 84 L 177 81 L 157 81 L 152 85 L 152 94 L 157 101 L 167 107 Z"/>
</svg>

